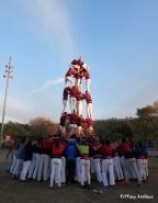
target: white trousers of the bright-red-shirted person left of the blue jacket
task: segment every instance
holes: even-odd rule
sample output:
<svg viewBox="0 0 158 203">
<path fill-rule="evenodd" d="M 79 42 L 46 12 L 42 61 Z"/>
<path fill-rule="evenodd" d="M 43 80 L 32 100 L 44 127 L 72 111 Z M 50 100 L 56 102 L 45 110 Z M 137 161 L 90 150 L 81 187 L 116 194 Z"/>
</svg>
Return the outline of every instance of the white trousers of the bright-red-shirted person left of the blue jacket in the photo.
<svg viewBox="0 0 158 203">
<path fill-rule="evenodd" d="M 61 184 L 61 159 L 53 158 L 52 159 L 52 171 L 50 171 L 50 187 L 54 185 L 54 180 L 60 187 Z"/>
</svg>

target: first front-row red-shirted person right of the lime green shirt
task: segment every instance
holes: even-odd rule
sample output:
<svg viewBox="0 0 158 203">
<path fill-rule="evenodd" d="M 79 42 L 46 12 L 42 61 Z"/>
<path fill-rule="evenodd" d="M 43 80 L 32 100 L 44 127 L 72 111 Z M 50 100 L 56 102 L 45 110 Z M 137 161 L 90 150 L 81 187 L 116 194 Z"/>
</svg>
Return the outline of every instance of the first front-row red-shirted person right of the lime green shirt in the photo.
<svg viewBox="0 0 158 203">
<path fill-rule="evenodd" d="M 112 154 L 110 142 L 106 140 L 102 146 L 102 180 L 104 187 L 113 187 L 115 184 Z"/>
</svg>

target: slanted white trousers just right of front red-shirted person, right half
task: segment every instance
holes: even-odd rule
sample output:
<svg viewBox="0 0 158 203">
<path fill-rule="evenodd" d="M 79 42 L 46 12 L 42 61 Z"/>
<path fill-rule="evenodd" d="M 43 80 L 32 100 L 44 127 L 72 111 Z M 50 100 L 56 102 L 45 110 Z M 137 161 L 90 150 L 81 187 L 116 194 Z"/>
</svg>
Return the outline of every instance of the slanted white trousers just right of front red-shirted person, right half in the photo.
<svg viewBox="0 0 158 203">
<path fill-rule="evenodd" d="M 113 162 L 114 162 L 114 171 L 116 174 L 116 180 L 123 180 L 124 177 L 123 177 L 123 170 L 121 168 L 120 157 L 114 157 Z"/>
</svg>

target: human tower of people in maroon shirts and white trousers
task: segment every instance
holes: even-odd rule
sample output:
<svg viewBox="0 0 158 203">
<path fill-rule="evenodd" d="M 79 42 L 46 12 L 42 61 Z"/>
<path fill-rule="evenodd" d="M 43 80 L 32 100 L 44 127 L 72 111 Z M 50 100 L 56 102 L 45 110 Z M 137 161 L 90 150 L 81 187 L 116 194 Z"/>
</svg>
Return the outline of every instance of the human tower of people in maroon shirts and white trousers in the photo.
<svg viewBox="0 0 158 203">
<path fill-rule="evenodd" d="M 63 137 L 70 137 L 72 134 L 79 137 L 93 134 L 90 83 L 88 65 L 81 58 L 74 59 L 66 72 L 63 91 L 64 106 L 59 124 Z M 86 106 L 86 116 L 83 116 L 83 105 Z"/>
</svg>

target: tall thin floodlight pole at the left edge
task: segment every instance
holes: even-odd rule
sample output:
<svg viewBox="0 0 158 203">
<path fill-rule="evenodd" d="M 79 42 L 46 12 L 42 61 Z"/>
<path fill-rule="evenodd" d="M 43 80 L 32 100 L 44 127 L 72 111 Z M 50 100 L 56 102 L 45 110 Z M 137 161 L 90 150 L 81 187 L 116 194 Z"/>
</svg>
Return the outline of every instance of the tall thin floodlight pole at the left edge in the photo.
<svg viewBox="0 0 158 203">
<path fill-rule="evenodd" d="M 2 138 L 3 136 L 3 126 L 4 126 L 4 116 L 5 116 L 5 105 L 7 105 L 7 98 L 8 98 L 8 89 L 9 89 L 9 79 L 13 78 L 11 74 L 13 72 L 13 66 L 11 65 L 11 56 L 9 59 L 9 64 L 5 65 L 5 74 L 3 75 L 3 78 L 7 79 L 5 83 L 5 92 L 4 92 L 4 100 L 3 100 L 3 110 L 2 110 L 2 122 L 1 122 L 1 132 L 0 132 L 0 137 Z"/>
</svg>

